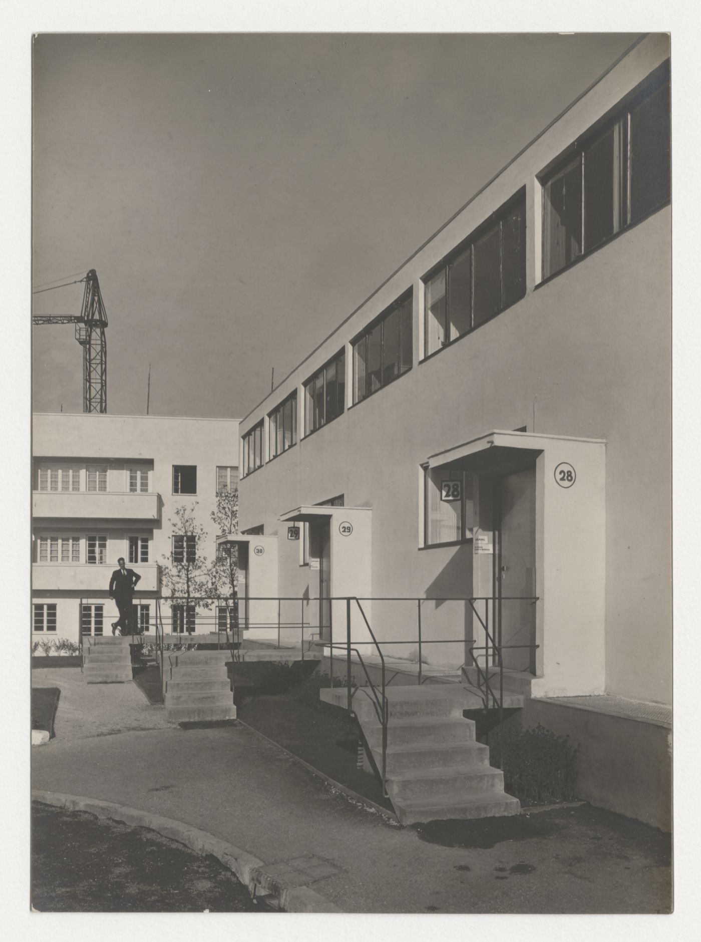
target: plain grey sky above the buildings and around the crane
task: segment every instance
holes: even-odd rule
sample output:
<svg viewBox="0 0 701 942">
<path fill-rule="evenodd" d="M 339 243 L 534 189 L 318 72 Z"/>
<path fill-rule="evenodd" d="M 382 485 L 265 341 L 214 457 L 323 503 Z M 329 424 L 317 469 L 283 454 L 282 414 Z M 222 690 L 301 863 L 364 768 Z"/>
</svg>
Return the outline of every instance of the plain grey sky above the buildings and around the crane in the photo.
<svg viewBox="0 0 701 942">
<path fill-rule="evenodd" d="M 97 271 L 107 412 L 243 417 L 636 34 L 40 34 L 33 284 Z M 79 314 L 82 285 L 34 296 Z M 73 327 L 33 409 L 82 411 Z"/>
</svg>

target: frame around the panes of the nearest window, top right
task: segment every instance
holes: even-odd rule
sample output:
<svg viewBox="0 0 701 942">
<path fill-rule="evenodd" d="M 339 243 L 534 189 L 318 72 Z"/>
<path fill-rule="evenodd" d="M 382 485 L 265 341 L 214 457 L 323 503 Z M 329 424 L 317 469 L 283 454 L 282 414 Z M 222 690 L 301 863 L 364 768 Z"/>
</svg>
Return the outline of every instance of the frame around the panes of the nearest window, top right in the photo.
<svg viewBox="0 0 701 942">
<path fill-rule="evenodd" d="M 669 138 L 667 138 L 667 146 L 669 147 L 670 152 L 670 165 L 669 165 L 669 179 L 667 181 L 667 195 L 660 200 L 660 202 L 655 203 L 652 207 L 648 207 L 642 214 L 638 216 L 633 216 L 633 193 L 632 193 L 632 173 L 633 173 L 633 162 L 635 158 L 635 152 L 637 150 L 634 140 L 632 140 L 632 114 L 633 112 L 644 105 L 644 103 L 652 98 L 652 96 L 660 91 L 660 89 L 667 89 L 667 132 L 669 133 Z M 664 206 L 667 206 L 671 203 L 671 83 L 670 83 L 670 64 L 669 59 L 663 62 L 657 69 L 653 70 L 649 75 L 647 75 L 643 82 L 639 83 L 635 89 L 633 89 L 628 95 L 622 98 L 619 102 L 613 106 L 606 115 L 604 115 L 599 121 L 595 122 L 591 127 L 589 127 L 579 138 L 576 138 L 572 144 L 570 144 L 566 150 L 560 154 L 555 160 L 551 161 L 546 168 L 537 175 L 538 183 L 541 187 L 541 271 L 540 271 L 540 280 L 538 284 L 535 285 L 536 288 L 540 287 L 542 284 L 547 284 L 553 278 L 557 278 L 558 275 L 562 274 L 563 271 L 567 271 L 569 268 L 572 268 L 573 265 L 578 265 L 583 259 L 588 258 L 594 252 L 598 252 L 599 249 L 603 248 L 605 245 L 608 245 L 611 241 L 618 238 L 620 235 L 628 232 L 629 229 L 632 229 L 634 226 L 638 225 L 639 222 L 643 222 L 644 219 L 652 216 L 654 213 L 657 213 L 660 209 L 663 209 Z M 606 138 L 610 132 L 613 132 L 615 138 L 616 129 L 620 128 L 620 144 L 619 144 L 619 153 L 621 154 L 621 159 L 623 161 L 623 169 L 621 172 L 623 186 L 621 187 L 621 205 L 619 207 L 620 213 L 620 224 L 618 228 L 615 228 L 615 224 L 612 225 L 612 231 L 610 235 L 605 235 L 601 238 L 594 246 L 591 248 L 588 246 L 587 239 L 587 225 L 586 225 L 586 206 L 587 206 L 587 187 L 586 187 L 586 155 L 587 152 L 590 152 L 596 144 L 599 144 L 603 138 Z M 614 147 L 615 150 L 615 147 Z M 548 267 L 548 256 L 546 253 L 546 236 L 547 236 L 547 227 L 546 220 L 548 217 L 548 210 L 546 205 L 546 191 L 548 185 L 555 180 L 559 174 L 562 174 L 562 171 L 569 165 L 579 163 L 579 174 L 580 174 L 580 187 L 581 187 L 581 207 L 580 207 L 580 219 L 579 219 L 579 244 L 581 246 L 580 252 L 575 255 L 569 262 L 563 264 L 560 268 L 555 269 L 554 271 L 549 271 L 546 274 Z M 615 166 L 615 160 L 613 161 Z M 613 171 L 613 169 L 612 169 Z M 615 213 L 615 209 L 614 209 Z"/>
</svg>

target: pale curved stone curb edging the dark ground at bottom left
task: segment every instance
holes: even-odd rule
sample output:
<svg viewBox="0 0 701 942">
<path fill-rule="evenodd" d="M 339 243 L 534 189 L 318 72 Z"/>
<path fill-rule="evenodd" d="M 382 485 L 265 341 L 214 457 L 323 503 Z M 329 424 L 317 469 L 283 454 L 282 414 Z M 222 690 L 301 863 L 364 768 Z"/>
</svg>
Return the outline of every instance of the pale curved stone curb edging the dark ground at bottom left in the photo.
<svg viewBox="0 0 701 942">
<path fill-rule="evenodd" d="M 36 791 L 31 793 L 32 801 L 51 804 L 70 811 L 85 811 L 96 818 L 109 818 L 122 821 L 132 827 L 146 827 L 163 837 L 170 837 L 180 844 L 185 844 L 196 853 L 211 853 L 220 863 L 230 869 L 240 882 L 247 886 L 253 897 L 265 895 L 273 907 L 285 913 L 342 913 L 333 902 L 321 896 L 309 886 L 290 886 L 284 880 L 269 873 L 267 865 L 253 857 L 251 853 L 240 850 L 220 837 L 192 827 L 184 821 L 162 818 L 150 811 L 139 811 L 122 804 L 102 802 L 95 798 L 83 798 L 78 795 L 64 795 L 56 791 Z"/>
</svg>

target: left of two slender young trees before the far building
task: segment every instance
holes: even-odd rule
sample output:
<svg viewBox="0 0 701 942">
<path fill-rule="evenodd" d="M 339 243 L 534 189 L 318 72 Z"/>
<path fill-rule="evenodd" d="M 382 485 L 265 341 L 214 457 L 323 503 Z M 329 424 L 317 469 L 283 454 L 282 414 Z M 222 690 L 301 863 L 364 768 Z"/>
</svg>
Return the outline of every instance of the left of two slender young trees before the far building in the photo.
<svg viewBox="0 0 701 942">
<path fill-rule="evenodd" d="M 172 599 L 173 604 L 181 604 L 183 609 L 183 627 L 187 629 L 187 613 L 193 605 L 211 608 L 212 583 L 210 567 L 203 553 L 204 541 L 208 534 L 195 518 L 195 501 L 191 507 L 176 508 L 173 517 L 169 517 L 172 528 L 171 556 L 161 567 L 161 580 Z"/>
</svg>

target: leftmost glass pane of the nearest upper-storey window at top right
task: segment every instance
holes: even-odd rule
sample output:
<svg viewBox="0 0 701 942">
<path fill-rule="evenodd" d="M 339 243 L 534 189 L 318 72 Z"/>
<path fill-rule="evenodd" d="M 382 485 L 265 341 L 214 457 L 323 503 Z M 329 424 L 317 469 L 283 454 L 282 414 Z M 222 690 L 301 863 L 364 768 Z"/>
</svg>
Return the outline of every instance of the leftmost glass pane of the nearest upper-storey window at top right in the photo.
<svg viewBox="0 0 701 942">
<path fill-rule="evenodd" d="M 581 254 L 581 156 L 543 190 L 543 276 L 560 271 Z"/>
</svg>

